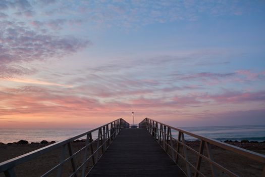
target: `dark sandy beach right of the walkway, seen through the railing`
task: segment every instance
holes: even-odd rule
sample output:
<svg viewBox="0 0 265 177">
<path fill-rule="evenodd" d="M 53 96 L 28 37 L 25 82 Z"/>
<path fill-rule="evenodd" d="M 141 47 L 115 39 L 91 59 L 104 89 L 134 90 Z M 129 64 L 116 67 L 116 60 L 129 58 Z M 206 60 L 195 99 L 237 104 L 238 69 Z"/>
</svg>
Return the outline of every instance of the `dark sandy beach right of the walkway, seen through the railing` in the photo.
<svg viewBox="0 0 265 177">
<path fill-rule="evenodd" d="M 240 142 L 228 142 L 231 145 L 247 149 L 250 151 L 254 151 L 260 154 L 265 154 L 265 143 L 240 143 Z M 191 141 L 186 142 L 188 146 L 193 148 L 194 150 L 199 150 L 199 142 L 198 141 Z M 207 156 L 207 153 L 204 148 L 203 154 Z M 180 148 L 180 152 L 182 153 L 182 147 Z M 249 159 L 242 155 L 236 154 L 234 152 L 225 150 L 223 148 L 211 145 L 211 152 L 213 154 L 215 162 L 219 163 L 223 167 L 229 169 L 230 171 L 234 172 L 239 176 L 246 176 L 246 177 L 254 177 L 254 176 L 261 176 L 262 168 L 264 164 L 257 162 L 255 160 Z M 187 150 L 189 161 L 196 166 L 197 156 L 191 153 L 190 150 Z M 179 166 L 185 169 L 185 163 L 180 158 Z M 192 171 L 192 170 L 191 170 Z M 208 162 L 202 160 L 201 170 L 205 176 L 211 176 L 211 168 Z M 194 171 L 192 172 L 192 174 Z M 223 173 L 223 171 L 217 169 L 217 176 L 228 176 L 227 174 Z"/>
</svg>

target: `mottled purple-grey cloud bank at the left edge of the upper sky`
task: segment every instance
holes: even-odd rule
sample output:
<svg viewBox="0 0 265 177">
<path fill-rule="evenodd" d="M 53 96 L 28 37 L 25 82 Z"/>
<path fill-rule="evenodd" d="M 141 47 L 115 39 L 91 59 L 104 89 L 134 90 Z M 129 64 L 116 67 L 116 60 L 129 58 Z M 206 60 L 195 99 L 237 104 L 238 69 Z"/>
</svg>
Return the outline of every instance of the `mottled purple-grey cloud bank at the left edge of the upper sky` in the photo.
<svg viewBox="0 0 265 177">
<path fill-rule="evenodd" d="M 90 41 L 73 36 L 56 36 L 40 33 L 24 23 L 0 21 L 0 75 L 13 77 L 25 73 L 25 68 L 14 67 L 14 63 L 43 61 L 61 58 L 85 48 Z M 41 25 L 33 21 L 33 25 Z M 12 65 L 12 66 L 11 66 Z"/>
</svg>

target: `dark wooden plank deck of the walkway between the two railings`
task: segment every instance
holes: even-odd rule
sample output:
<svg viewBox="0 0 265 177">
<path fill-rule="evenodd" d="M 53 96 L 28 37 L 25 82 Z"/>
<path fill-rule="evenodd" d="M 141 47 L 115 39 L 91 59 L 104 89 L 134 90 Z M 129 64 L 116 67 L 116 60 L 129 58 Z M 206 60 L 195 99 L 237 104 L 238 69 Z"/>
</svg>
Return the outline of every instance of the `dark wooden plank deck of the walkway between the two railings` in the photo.
<svg viewBox="0 0 265 177">
<path fill-rule="evenodd" d="M 88 176 L 185 176 L 146 129 L 121 130 Z"/>
</svg>

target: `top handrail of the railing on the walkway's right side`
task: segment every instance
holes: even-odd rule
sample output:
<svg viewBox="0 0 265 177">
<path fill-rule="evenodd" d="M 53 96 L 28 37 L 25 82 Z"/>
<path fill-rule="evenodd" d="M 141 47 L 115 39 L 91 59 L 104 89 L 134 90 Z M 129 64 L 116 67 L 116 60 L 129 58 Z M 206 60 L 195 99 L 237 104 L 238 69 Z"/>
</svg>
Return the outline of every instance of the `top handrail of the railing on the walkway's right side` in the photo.
<svg viewBox="0 0 265 177">
<path fill-rule="evenodd" d="M 221 148 L 224 148 L 226 150 L 229 150 L 229 151 L 232 151 L 232 152 L 235 152 L 235 153 L 238 153 L 240 151 L 243 151 L 244 153 L 242 153 L 241 155 L 245 156 L 245 157 L 248 157 L 248 158 L 251 158 L 253 160 L 257 160 L 261 163 L 265 163 L 265 155 L 263 154 L 260 154 L 260 153 L 256 153 L 256 152 L 253 152 L 253 151 L 250 151 L 250 150 L 247 150 L 247 149 L 243 149 L 243 148 L 240 148 L 240 147 L 237 147 L 237 146 L 233 146 L 233 145 L 230 145 L 230 144 L 227 144 L 227 143 L 224 143 L 224 142 L 221 142 L 221 141 L 217 141 L 215 139 L 211 139 L 211 138 L 206 138 L 206 137 L 203 137 L 203 136 L 200 136 L 200 135 L 196 135 L 196 134 L 193 134 L 192 132 L 189 132 L 189 131 L 186 131 L 186 130 L 183 130 L 183 129 L 180 129 L 180 128 L 176 128 L 176 127 L 173 127 L 173 126 L 170 126 L 170 125 L 167 125 L 165 123 L 162 123 L 162 122 L 158 122 L 156 120 L 153 120 L 153 119 L 150 119 L 148 118 L 149 120 L 152 120 L 152 121 L 155 121 L 157 123 L 160 123 L 160 124 L 163 124 L 165 126 L 168 126 L 170 127 L 171 129 L 174 129 L 174 130 L 177 130 L 177 131 L 181 131 L 181 132 L 184 132 L 185 134 L 189 135 L 189 136 L 192 136 L 192 137 L 195 137 L 197 139 L 200 139 L 200 140 L 203 140 L 205 142 L 208 142 L 210 144 L 213 144 L 213 145 L 216 145 L 216 146 L 219 146 Z M 144 119 L 145 120 L 145 119 Z M 141 122 L 140 122 L 141 123 Z M 140 124 L 139 123 L 139 124 Z"/>
</svg>

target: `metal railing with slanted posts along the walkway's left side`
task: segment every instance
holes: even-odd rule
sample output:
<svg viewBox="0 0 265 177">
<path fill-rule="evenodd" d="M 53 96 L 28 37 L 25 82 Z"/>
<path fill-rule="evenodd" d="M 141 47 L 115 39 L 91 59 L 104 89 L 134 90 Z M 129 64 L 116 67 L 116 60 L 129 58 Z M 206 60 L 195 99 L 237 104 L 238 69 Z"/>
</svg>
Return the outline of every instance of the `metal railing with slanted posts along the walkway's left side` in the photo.
<svg viewBox="0 0 265 177">
<path fill-rule="evenodd" d="M 120 118 L 113 122 L 110 122 L 108 124 L 102 125 L 100 127 L 97 127 L 95 129 L 89 130 L 87 132 L 84 132 L 83 134 L 77 135 L 75 137 L 72 137 L 70 139 L 57 142 L 55 144 L 48 145 L 46 147 L 37 149 L 35 151 L 29 152 L 27 154 L 15 157 L 13 159 L 4 161 L 0 163 L 0 173 L 4 172 L 6 177 L 15 177 L 16 172 L 15 168 L 17 165 L 27 162 L 29 160 L 35 159 L 39 157 L 40 155 L 43 155 L 45 153 L 48 153 L 52 150 L 55 150 L 57 148 L 62 148 L 61 151 L 61 157 L 60 162 L 47 172 L 45 172 L 42 177 L 48 176 L 52 172 L 55 172 L 57 170 L 57 176 L 62 176 L 62 169 L 64 163 L 71 161 L 71 166 L 73 169 L 72 174 L 70 176 L 77 176 L 77 172 L 81 172 L 81 176 L 84 177 L 87 174 L 85 174 L 86 166 L 89 160 L 92 159 L 92 164 L 95 165 L 98 159 L 102 156 L 102 154 L 105 152 L 105 150 L 108 149 L 108 147 L 112 144 L 113 140 L 117 137 L 120 130 L 123 128 L 128 128 L 129 123 L 127 123 L 124 119 Z M 97 139 L 92 139 L 92 133 L 98 131 Z M 72 142 L 74 140 L 77 140 L 78 138 L 86 136 L 85 146 L 82 147 L 80 150 L 73 153 L 72 148 Z M 93 144 L 96 144 L 96 149 L 93 149 Z M 69 157 L 66 157 L 67 149 L 69 152 Z M 88 150 L 90 149 L 90 156 L 88 156 Z M 101 152 L 99 151 L 101 150 Z M 77 154 L 80 154 L 80 152 L 84 151 L 83 154 L 83 161 L 82 164 L 79 166 L 76 166 L 74 157 L 77 156 Z M 99 154 L 101 153 L 101 155 Z"/>
</svg>

